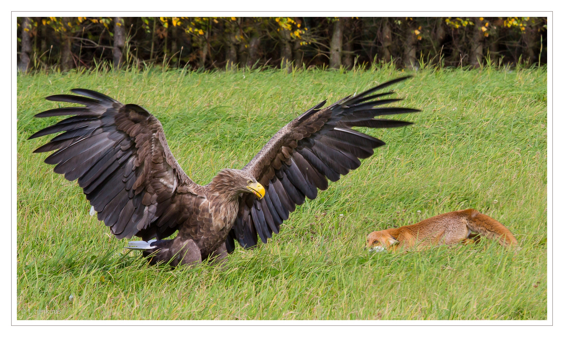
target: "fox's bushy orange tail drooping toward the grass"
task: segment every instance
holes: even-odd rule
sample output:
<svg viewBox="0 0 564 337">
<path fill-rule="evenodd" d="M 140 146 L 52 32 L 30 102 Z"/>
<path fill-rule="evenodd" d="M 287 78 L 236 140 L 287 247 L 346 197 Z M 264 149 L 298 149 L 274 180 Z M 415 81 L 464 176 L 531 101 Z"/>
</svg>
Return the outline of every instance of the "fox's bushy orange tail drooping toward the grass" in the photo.
<svg viewBox="0 0 564 337">
<path fill-rule="evenodd" d="M 515 239 L 513 233 L 499 221 L 473 209 L 460 212 L 468 219 L 468 228 L 472 232 L 480 233 L 490 240 L 496 240 L 505 247 L 517 246 L 517 239 Z"/>
</svg>

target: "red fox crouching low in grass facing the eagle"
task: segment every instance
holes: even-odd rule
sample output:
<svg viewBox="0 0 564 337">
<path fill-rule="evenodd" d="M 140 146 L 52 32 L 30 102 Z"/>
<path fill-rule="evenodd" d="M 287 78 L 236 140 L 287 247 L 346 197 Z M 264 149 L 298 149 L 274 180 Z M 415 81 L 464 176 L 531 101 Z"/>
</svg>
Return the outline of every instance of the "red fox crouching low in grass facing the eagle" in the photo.
<svg viewBox="0 0 564 337">
<path fill-rule="evenodd" d="M 371 251 L 395 251 L 399 247 L 407 249 L 425 242 L 433 245 L 470 243 L 479 240 L 479 234 L 497 240 L 505 247 L 517 246 L 517 239 L 504 225 L 477 210 L 468 209 L 439 214 L 413 225 L 377 230 L 368 234 L 364 247 Z"/>
</svg>

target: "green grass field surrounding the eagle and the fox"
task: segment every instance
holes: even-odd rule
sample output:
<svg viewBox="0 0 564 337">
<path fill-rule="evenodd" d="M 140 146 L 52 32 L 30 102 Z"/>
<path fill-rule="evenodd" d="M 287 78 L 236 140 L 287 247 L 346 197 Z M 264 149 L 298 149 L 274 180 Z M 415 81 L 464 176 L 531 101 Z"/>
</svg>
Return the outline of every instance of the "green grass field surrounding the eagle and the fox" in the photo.
<svg viewBox="0 0 564 337">
<path fill-rule="evenodd" d="M 405 73 L 310 70 L 50 74 L 17 79 L 17 318 L 546 320 L 547 72 L 420 70 L 394 86 L 415 125 L 370 130 L 375 150 L 225 270 L 149 267 L 89 216 L 76 182 L 26 140 L 61 118 L 43 97 L 84 87 L 148 108 L 184 171 L 241 168 L 294 117 Z M 372 254 L 367 233 L 473 207 L 522 250 L 482 240 Z M 420 211 L 420 212 L 419 212 Z"/>
</svg>

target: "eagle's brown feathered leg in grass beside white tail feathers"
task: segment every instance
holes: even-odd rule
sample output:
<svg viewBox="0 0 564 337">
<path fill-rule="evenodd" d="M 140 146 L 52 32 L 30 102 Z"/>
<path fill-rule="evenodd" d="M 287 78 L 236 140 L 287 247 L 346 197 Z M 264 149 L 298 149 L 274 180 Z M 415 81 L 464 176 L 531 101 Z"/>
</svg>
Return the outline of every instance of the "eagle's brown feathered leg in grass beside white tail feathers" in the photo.
<svg viewBox="0 0 564 337">
<path fill-rule="evenodd" d="M 192 239 L 177 236 L 172 240 L 151 242 L 151 247 L 155 248 L 143 251 L 143 256 L 151 265 L 164 262 L 177 267 L 181 264 L 199 264 L 202 261 L 200 249 Z"/>
</svg>

